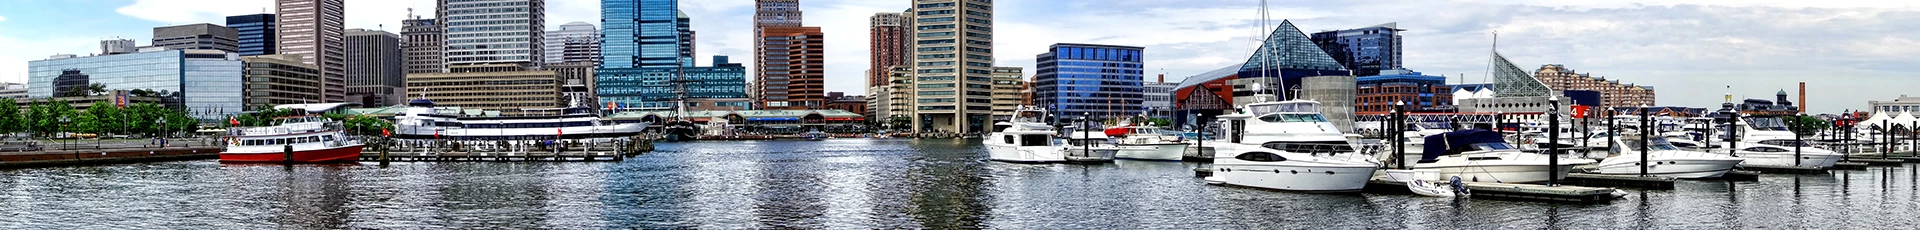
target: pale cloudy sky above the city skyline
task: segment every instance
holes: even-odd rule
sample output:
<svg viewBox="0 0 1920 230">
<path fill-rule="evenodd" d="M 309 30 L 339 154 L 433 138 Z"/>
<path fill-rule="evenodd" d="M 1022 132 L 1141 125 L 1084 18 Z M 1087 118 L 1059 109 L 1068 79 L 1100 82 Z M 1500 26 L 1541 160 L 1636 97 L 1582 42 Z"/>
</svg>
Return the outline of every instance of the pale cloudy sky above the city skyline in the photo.
<svg viewBox="0 0 1920 230">
<path fill-rule="evenodd" d="M 828 90 L 866 92 L 868 17 L 910 0 L 801 0 L 806 27 L 828 36 Z M 1271 0 L 1271 25 L 1302 31 L 1398 23 L 1404 67 L 1482 82 L 1498 52 L 1526 71 L 1561 63 L 1657 88 L 1661 105 L 1718 107 L 1724 94 L 1797 94 L 1814 113 L 1920 96 L 1920 2 L 1885 0 Z M 271 12 L 273 0 L 8 0 L 0 8 L 0 82 L 25 82 L 27 61 L 94 54 L 102 38 L 150 42 L 152 27 L 225 23 Z M 397 31 L 434 0 L 348 0 L 348 29 Z M 599 25 L 599 0 L 547 0 L 547 27 Z M 682 0 L 708 56 L 751 63 L 751 0 Z M 1058 42 L 1144 46 L 1146 77 L 1177 82 L 1240 63 L 1269 29 L 1260 0 L 1000 0 L 995 65 L 1033 69 Z M 384 25 L 384 27 L 382 27 Z M 749 67 L 751 69 L 751 67 Z M 1797 96 L 1789 96 L 1797 98 Z"/>
</svg>

